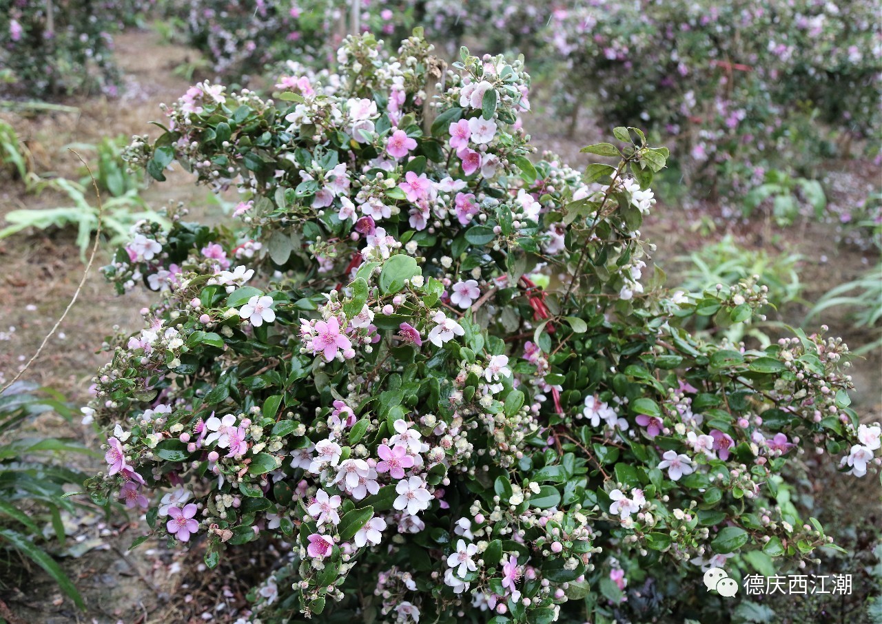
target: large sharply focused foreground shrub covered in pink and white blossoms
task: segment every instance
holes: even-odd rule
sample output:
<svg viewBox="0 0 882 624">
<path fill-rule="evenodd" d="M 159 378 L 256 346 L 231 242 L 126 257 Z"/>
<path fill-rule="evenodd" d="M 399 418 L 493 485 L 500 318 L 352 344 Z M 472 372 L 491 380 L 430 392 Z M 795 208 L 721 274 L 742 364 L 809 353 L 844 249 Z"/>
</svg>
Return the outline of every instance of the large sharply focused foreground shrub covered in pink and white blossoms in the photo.
<svg viewBox="0 0 882 624">
<path fill-rule="evenodd" d="M 273 100 L 197 85 L 131 145 L 158 180 L 176 161 L 237 187 L 243 225 L 172 214 L 105 268 L 160 298 L 84 408 L 108 433 L 96 500 L 204 540 L 209 567 L 288 542 L 252 592 L 265 622 L 649 619 L 684 590 L 713 618 L 702 568 L 831 546 L 776 496 L 804 448 L 843 479 L 879 463 L 848 349 L 683 329 L 751 323 L 765 295 L 643 279 L 666 149 L 617 128 L 585 150 L 617 164 L 583 175 L 534 158 L 520 61 L 447 71 L 419 37 L 388 55 L 370 35 L 337 59 Z"/>
</svg>

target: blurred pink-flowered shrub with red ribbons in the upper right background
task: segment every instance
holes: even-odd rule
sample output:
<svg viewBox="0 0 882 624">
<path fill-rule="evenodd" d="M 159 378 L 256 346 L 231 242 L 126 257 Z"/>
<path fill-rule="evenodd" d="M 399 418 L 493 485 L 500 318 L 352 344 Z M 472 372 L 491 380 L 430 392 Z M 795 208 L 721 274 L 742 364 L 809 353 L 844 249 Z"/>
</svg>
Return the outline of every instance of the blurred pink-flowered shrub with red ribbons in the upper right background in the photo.
<svg viewBox="0 0 882 624">
<path fill-rule="evenodd" d="M 741 193 L 770 166 L 811 173 L 835 153 L 831 130 L 878 136 L 875 14 L 866 2 L 598 0 L 556 11 L 548 36 L 567 85 L 598 85 L 604 121 L 642 119 L 675 138 L 687 182 Z"/>
</svg>

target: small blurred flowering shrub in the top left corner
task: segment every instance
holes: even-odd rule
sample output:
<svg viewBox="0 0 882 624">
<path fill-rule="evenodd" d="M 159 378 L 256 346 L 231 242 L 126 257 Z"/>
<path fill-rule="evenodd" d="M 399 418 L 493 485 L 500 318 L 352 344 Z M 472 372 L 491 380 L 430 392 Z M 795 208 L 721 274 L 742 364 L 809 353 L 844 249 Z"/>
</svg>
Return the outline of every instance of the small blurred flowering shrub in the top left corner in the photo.
<svg viewBox="0 0 882 624">
<path fill-rule="evenodd" d="M 0 0 L 0 68 L 40 97 L 100 88 L 116 94 L 113 40 L 125 0 Z"/>
</svg>

